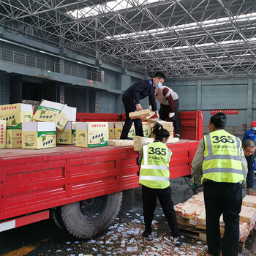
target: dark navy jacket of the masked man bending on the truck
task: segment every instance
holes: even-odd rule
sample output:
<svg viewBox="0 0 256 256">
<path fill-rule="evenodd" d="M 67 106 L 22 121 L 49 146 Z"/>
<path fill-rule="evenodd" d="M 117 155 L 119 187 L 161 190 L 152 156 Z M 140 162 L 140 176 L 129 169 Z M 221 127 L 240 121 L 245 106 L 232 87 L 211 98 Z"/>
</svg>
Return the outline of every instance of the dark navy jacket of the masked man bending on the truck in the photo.
<svg viewBox="0 0 256 256">
<path fill-rule="evenodd" d="M 123 99 L 135 102 L 135 104 L 139 104 L 140 99 L 144 99 L 148 96 L 149 102 L 151 102 L 152 110 L 157 111 L 157 102 L 154 97 L 155 89 L 153 79 L 140 80 L 124 91 Z"/>
</svg>

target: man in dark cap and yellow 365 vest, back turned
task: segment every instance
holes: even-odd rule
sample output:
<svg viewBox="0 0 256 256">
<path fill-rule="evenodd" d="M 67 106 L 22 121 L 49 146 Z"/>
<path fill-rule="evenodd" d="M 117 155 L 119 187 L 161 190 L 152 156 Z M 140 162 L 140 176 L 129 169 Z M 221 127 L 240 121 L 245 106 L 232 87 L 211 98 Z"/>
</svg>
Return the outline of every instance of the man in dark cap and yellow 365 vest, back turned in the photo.
<svg viewBox="0 0 256 256">
<path fill-rule="evenodd" d="M 225 131 L 226 123 L 227 117 L 222 112 L 211 116 L 209 134 L 200 140 L 192 161 L 192 188 L 197 187 L 203 174 L 208 253 L 214 256 L 238 255 L 241 182 L 246 177 L 241 140 Z M 219 218 L 222 214 L 225 234 L 221 239 Z"/>
</svg>

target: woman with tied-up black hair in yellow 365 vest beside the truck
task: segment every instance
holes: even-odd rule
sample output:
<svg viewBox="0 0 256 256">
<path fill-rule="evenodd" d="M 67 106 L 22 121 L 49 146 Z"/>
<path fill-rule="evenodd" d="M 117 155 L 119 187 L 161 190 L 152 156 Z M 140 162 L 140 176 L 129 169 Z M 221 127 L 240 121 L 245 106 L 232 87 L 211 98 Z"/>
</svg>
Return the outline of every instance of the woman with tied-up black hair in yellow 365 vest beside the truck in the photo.
<svg viewBox="0 0 256 256">
<path fill-rule="evenodd" d="M 157 206 L 157 198 L 167 219 L 173 236 L 171 245 L 183 244 L 179 236 L 176 213 L 173 208 L 173 200 L 170 189 L 169 162 L 172 151 L 165 145 L 169 132 L 163 129 L 161 124 L 155 124 L 153 129 L 154 142 L 144 145 L 140 154 L 140 186 L 142 186 L 143 216 L 145 231 L 143 238 L 151 241 L 152 220 Z"/>
</svg>

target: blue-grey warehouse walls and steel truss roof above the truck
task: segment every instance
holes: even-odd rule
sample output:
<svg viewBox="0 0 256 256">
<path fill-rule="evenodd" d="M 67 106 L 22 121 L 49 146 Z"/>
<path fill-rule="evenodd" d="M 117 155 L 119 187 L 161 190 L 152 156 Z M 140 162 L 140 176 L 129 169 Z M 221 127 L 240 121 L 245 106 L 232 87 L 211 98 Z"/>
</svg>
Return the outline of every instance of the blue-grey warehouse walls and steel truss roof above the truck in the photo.
<svg viewBox="0 0 256 256">
<path fill-rule="evenodd" d="M 256 119 L 256 2 L 0 1 L 0 104 L 49 99 L 124 113 L 121 94 L 162 70 L 180 110 Z M 143 100 L 143 108 L 148 105 Z"/>
</svg>

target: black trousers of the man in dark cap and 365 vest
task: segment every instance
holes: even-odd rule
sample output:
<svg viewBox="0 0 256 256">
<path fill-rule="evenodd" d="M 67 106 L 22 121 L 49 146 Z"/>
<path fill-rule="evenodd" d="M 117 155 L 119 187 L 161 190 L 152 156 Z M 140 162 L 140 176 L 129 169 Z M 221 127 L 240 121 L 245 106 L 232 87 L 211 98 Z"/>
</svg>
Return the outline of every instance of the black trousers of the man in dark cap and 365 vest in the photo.
<svg viewBox="0 0 256 256">
<path fill-rule="evenodd" d="M 206 236 L 212 255 L 237 256 L 239 243 L 239 214 L 242 204 L 240 183 L 205 181 L 203 194 L 206 206 Z M 221 240 L 219 217 L 223 214 L 225 233 Z"/>
</svg>

